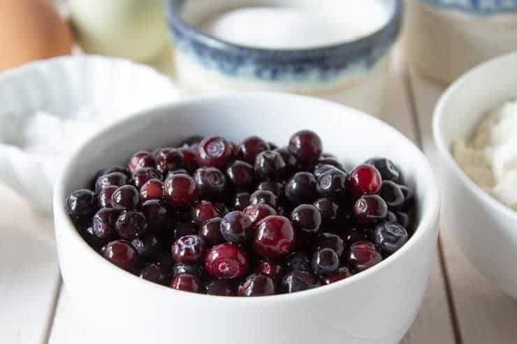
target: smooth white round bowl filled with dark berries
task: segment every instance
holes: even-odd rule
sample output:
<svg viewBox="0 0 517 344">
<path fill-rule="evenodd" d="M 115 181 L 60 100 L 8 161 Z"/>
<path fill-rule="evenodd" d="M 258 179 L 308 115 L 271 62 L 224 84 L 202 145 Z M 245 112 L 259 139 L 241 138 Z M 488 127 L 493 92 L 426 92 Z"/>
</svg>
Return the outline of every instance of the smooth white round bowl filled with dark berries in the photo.
<svg viewBox="0 0 517 344">
<path fill-rule="evenodd" d="M 418 228 L 397 253 L 361 274 L 314 290 L 271 297 L 213 297 L 171 290 L 115 267 L 90 248 L 66 215 L 68 193 L 94 172 L 143 147 L 193 134 L 238 142 L 261 135 L 287 143 L 297 130 L 319 133 L 347 163 L 393 159 L 415 188 Z M 437 186 L 412 142 L 387 124 L 326 100 L 271 93 L 210 96 L 155 107 L 119 121 L 68 161 L 54 190 L 61 274 L 85 326 L 112 343 L 395 344 L 423 300 L 437 241 Z"/>
</svg>

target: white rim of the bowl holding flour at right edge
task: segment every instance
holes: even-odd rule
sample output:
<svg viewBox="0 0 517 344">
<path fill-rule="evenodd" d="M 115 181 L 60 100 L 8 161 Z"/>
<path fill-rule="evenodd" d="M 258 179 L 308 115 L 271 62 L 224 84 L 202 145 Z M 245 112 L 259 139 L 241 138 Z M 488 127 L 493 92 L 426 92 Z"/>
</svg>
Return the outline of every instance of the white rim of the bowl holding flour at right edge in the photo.
<svg viewBox="0 0 517 344">
<path fill-rule="evenodd" d="M 453 98 L 456 93 L 462 89 L 466 84 L 472 84 L 473 80 L 476 80 L 478 75 L 484 74 L 486 70 L 490 70 L 494 66 L 504 65 L 509 62 L 517 61 L 517 52 L 510 54 L 504 54 L 501 57 L 490 59 L 489 61 L 481 63 L 479 66 L 472 68 L 463 74 L 458 80 L 453 82 L 439 98 L 438 103 L 435 107 L 432 118 L 432 135 L 435 140 L 435 145 L 439 152 L 439 155 L 445 160 L 445 163 L 453 171 L 454 174 L 460 179 L 463 185 L 469 190 L 470 193 L 474 194 L 477 198 L 487 204 L 492 211 L 497 211 L 499 214 L 503 214 L 507 218 L 510 218 L 517 223 L 517 211 L 512 210 L 506 204 L 497 200 L 497 198 L 490 195 L 488 192 L 478 186 L 470 177 L 462 170 L 460 165 L 456 162 L 456 159 L 451 153 L 450 144 L 446 142 L 445 135 L 442 130 L 444 124 L 445 112 L 449 105 L 449 101 Z"/>
</svg>

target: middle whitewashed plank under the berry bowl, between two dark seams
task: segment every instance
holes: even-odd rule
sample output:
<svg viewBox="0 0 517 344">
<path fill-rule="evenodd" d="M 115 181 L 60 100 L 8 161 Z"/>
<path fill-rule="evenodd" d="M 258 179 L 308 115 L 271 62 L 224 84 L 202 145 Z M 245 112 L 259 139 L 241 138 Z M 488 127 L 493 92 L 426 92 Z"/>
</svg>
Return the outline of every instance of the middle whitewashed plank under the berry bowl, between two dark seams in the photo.
<svg viewBox="0 0 517 344">
<path fill-rule="evenodd" d="M 414 116 L 409 103 L 409 93 L 404 82 L 404 68 L 400 55 L 395 55 L 393 75 L 388 97 L 386 98 L 383 119 L 395 128 L 416 140 Z M 73 307 L 66 297 L 66 288 L 61 291 L 54 327 L 50 335 L 50 344 L 94 343 L 96 338 L 85 330 L 78 321 Z M 99 342 L 101 343 L 101 342 Z M 402 343 L 405 344 L 453 344 L 456 343 L 447 304 L 446 287 L 439 264 L 435 260 L 430 284 L 425 294 L 425 301 L 412 329 Z"/>
</svg>

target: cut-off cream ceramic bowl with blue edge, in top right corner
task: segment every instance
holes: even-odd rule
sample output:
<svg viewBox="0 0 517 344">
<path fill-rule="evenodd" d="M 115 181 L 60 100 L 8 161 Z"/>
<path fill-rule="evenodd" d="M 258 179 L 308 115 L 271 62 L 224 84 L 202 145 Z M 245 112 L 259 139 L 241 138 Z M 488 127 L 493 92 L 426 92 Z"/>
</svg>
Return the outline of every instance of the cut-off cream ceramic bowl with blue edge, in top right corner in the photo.
<svg viewBox="0 0 517 344">
<path fill-rule="evenodd" d="M 409 61 L 441 82 L 517 50 L 517 0 L 406 0 Z"/>
</svg>

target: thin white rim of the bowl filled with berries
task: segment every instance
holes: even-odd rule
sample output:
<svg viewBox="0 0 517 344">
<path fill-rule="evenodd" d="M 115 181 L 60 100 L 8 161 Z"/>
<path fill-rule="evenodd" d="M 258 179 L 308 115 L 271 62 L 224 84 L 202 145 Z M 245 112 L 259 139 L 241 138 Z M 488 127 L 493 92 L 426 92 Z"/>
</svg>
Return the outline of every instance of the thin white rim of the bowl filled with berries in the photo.
<svg viewBox="0 0 517 344">
<path fill-rule="evenodd" d="M 348 114 L 352 114 L 354 117 L 362 117 L 366 119 L 367 121 L 371 121 L 372 124 L 375 126 L 380 126 L 384 130 L 391 131 L 393 135 L 396 135 L 402 140 L 402 142 L 405 142 L 409 149 L 414 150 L 414 154 L 416 156 L 420 157 L 422 168 L 426 171 L 425 175 L 429 177 L 430 180 L 425 181 L 425 187 L 426 190 L 428 190 L 428 207 L 426 209 L 422 209 L 421 216 L 418 221 L 418 225 L 416 227 L 416 230 L 412 237 L 407 241 L 407 243 L 402 246 L 397 252 L 395 252 L 393 255 L 387 257 L 386 259 L 382 260 L 378 264 L 375 264 L 370 269 L 367 269 L 365 271 L 361 271 L 359 274 L 355 274 L 353 276 L 350 276 L 348 278 L 345 278 L 342 281 L 337 281 L 335 283 L 331 283 L 330 285 L 322 285 L 321 287 L 316 287 L 311 290 L 304 290 L 301 292 L 294 292 L 290 294 L 275 294 L 270 296 L 264 296 L 264 297 L 224 297 L 224 296 L 215 296 L 215 295 L 207 295 L 207 294 L 201 294 L 201 293 L 193 293 L 193 292 L 183 292 L 181 290 L 173 290 L 172 288 L 164 285 L 159 285 L 156 283 L 152 283 L 150 281 L 145 281 L 142 278 L 139 278 L 136 275 L 133 275 L 129 273 L 128 271 L 125 271 L 124 269 L 120 269 L 119 267 L 115 266 L 115 264 L 111 264 L 107 260 L 105 260 L 104 257 L 99 255 L 93 248 L 91 248 L 87 242 L 80 237 L 80 234 L 75 229 L 75 226 L 73 225 L 70 217 L 66 214 L 65 211 L 65 204 L 64 200 L 66 198 L 66 190 L 64 190 L 64 185 L 66 184 L 64 181 L 66 181 L 69 171 L 74 170 L 76 167 L 78 160 L 78 153 L 82 150 L 84 150 L 86 147 L 91 144 L 94 140 L 99 140 L 99 137 L 102 137 L 103 135 L 106 135 L 112 130 L 115 130 L 116 128 L 120 126 L 125 126 L 126 123 L 130 121 L 139 121 L 143 120 L 144 118 L 152 121 L 150 117 L 157 116 L 161 110 L 167 110 L 169 114 L 173 114 L 175 108 L 182 107 L 182 106 L 189 106 L 194 103 L 203 103 L 203 102 L 209 102 L 210 100 L 221 100 L 221 99 L 227 99 L 228 101 L 232 98 L 239 98 L 242 100 L 242 98 L 249 98 L 249 99 L 263 99 L 264 97 L 267 97 L 270 101 L 271 98 L 277 98 L 279 101 L 281 100 L 289 100 L 291 102 L 296 102 L 298 100 L 303 101 L 311 101 L 311 102 L 319 102 L 322 106 L 326 107 L 335 107 L 340 108 L 341 110 L 347 110 Z M 276 102 L 274 102 L 276 103 Z M 327 112 L 329 113 L 329 112 Z M 418 175 L 414 176 L 415 179 L 418 178 Z M 140 112 L 136 112 L 135 114 L 132 114 L 131 116 L 125 117 L 124 119 L 115 122 L 114 124 L 110 124 L 110 126 L 104 128 L 103 130 L 96 133 L 96 135 L 92 136 L 80 145 L 73 154 L 71 154 L 68 157 L 68 160 L 66 161 L 64 168 L 61 170 L 61 173 L 59 174 L 59 177 L 57 179 L 57 182 L 54 186 L 54 194 L 53 194 L 53 213 L 54 218 L 59 220 L 54 220 L 54 223 L 66 223 L 66 228 L 64 230 L 70 231 L 73 237 L 74 241 L 77 241 L 82 248 L 85 248 L 85 253 L 91 257 L 91 259 L 97 260 L 101 264 L 105 264 L 106 269 L 112 269 L 112 276 L 117 276 L 117 278 L 124 278 L 126 279 L 127 283 L 143 283 L 143 287 L 147 285 L 149 288 L 158 288 L 159 290 L 167 291 L 167 292 L 180 292 L 184 296 L 189 297 L 202 297 L 202 298 L 212 298 L 212 299 L 225 299 L 226 302 L 233 301 L 238 302 L 240 304 L 252 304 L 254 303 L 254 300 L 259 299 L 261 301 L 271 301 L 275 302 L 277 300 L 282 299 L 299 299 L 303 297 L 316 297 L 319 294 L 330 292 L 330 290 L 335 290 L 338 288 L 346 287 L 346 285 L 349 285 L 351 283 L 358 283 L 359 281 L 364 280 L 365 278 L 368 278 L 368 276 L 375 274 L 378 270 L 383 269 L 388 264 L 394 264 L 400 258 L 405 255 L 405 253 L 414 245 L 416 245 L 418 242 L 421 242 L 426 234 L 428 232 L 431 232 L 432 230 L 436 229 L 437 225 L 437 218 L 439 214 L 439 206 L 440 206 L 440 198 L 439 198 L 439 191 L 437 186 L 437 181 L 435 179 L 435 175 L 432 172 L 432 169 L 428 163 L 428 160 L 425 158 L 423 153 L 421 152 L 416 145 L 409 140 L 405 135 L 400 133 L 398 130 L 393 128 L 392 126 L 389 126 L 388 124 L 384 123 L 380 119 L 377 119 L 375 117 L 372 117 L 368 114 L 365 114 L 364 112 L 361 112 L 360 110 L 356 110 L 353 107 L 348 107 L 346 105 L 341 105 L 339 103 L 335 103 L 329 100 L 323 100 L 320 98 L 313 98 L 309 96 L 300 96 L 295 94 L 286 94 L 281 92 L 270 92 L 270 91 L 249 91 L 249 92 L 226 92 L 224 94 L 210 94 L 210 95 L 204 95 L 199 96 L 197 98 L 191 98 L 191 99 L 184 99 L 180 100 L 174 103 L 168 103 L 164 105 L 159 105 L 156 107 L 151 107 L 150 109 L 143 110 Z M 56 231 L 56 237 L 58 236 L 58 233 Z M 56 238 L 57 239 L 57 238 Z M 60 262 L 61 264 L 61 262 Z M 185 295 L 186 294 L 186 295 Z"/>
</svg>

